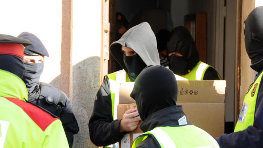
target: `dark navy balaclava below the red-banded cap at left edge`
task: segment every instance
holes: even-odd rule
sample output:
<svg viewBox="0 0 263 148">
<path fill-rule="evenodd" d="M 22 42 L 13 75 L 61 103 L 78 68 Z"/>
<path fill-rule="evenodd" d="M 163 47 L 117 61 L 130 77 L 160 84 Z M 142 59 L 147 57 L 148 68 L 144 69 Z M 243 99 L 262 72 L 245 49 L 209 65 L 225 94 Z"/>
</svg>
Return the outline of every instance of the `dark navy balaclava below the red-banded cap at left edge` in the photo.
<svg viewBox="0 0 263 148">
<path fill-rule="evenodd" d="M 9 71 L 22 78 L 25 68 L 21 58 L 14 55 L 0 54 L 0 69 Z"/>
</svg>

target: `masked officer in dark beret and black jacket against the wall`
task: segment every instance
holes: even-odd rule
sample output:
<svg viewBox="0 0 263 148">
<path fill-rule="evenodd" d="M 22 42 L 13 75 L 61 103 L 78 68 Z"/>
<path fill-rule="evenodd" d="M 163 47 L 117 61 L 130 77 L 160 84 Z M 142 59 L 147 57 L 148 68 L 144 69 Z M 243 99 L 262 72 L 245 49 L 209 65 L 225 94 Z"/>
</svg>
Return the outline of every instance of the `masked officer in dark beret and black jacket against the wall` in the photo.
<svg viewBox="0 0 263 148">
<path fill-rule="evenodd" d="M 48 110 L 60 118 L 70 147 L 73 145 L 73 135 L 79 131 L 77 120 L 67 95 L 50 84 L 39 82 L 44 68 L 44 56 L 49 57 L 45 46 L 32 33 L 23 32 L 18 37 L 32 42 L 24 50 L 25 74 L 22 80 L 27 86 L 29 101 Z"/>
</svg>

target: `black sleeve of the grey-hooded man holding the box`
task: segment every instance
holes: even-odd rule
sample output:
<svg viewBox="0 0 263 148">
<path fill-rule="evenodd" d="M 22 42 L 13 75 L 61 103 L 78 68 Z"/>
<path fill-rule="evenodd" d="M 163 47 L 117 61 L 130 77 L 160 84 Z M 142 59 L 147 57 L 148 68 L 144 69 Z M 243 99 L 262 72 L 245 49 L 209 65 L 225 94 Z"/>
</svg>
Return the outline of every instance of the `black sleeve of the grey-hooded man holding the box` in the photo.
<svg viewBox="0 0 263 148">
<path fill-rule="evenodd" d="M 97 92 L 93 113 L 88 127 L 91 141 L 97 146 L 107 146 L 120 141 L 125 134 L 120 132 L 120 120 L 113 120 L 109 79 L 105 78 Z"/>
</svg>

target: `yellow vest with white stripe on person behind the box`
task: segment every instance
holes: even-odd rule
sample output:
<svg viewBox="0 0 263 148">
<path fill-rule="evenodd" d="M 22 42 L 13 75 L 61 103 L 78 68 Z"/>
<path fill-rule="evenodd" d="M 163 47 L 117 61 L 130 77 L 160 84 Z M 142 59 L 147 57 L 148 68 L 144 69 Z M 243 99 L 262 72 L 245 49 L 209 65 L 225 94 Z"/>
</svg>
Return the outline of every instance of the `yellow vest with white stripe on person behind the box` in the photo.
<svg viewBox="0 0 263 148">
<path fill-rule="evenodd" d="M 205 71 L 209 67 L 212 67 L 212 66 L 210 66 L 204 62 L 199 61 L 188 74 L 185 74 L 182 77 L 184 77 L 188 80 L 203 80 Z"/>
</svg>

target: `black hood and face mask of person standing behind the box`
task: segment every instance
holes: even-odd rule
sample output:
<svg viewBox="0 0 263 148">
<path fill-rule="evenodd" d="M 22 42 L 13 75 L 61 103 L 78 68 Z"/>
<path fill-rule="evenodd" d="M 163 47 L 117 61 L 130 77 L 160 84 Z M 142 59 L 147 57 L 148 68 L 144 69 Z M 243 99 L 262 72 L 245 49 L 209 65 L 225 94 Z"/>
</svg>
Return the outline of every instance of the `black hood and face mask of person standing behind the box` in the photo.
<svg viewBox="0 0 263 148">
<path fill-rule="evenodd" d="M 189 31 L 183 26 L 176 27 L 167 42 L 167 53 L 172 52 L 178 52 L 183 55 L 183 57 L 176 55 L 168 57 L 169 68 L 175 74 L 187 74 L 199 62 L 195 41 Z"/>
</svg>

